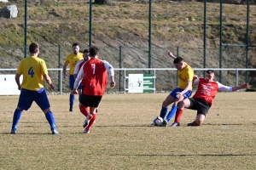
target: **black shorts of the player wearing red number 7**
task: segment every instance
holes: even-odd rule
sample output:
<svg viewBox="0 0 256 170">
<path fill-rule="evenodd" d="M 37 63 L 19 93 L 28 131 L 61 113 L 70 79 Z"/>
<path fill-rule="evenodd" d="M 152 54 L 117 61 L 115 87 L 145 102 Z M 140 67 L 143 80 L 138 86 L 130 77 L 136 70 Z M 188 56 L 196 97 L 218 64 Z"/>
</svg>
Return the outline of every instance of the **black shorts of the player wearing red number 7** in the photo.
<svg viewBox="0 0 256 170">
<path fill-rule="evenodd" d="M 87 107 L 98 107 L 101 100 L 102 96 L 82 94 L 82 98 L 79 100 L 79 102 Z"/>
</svg>

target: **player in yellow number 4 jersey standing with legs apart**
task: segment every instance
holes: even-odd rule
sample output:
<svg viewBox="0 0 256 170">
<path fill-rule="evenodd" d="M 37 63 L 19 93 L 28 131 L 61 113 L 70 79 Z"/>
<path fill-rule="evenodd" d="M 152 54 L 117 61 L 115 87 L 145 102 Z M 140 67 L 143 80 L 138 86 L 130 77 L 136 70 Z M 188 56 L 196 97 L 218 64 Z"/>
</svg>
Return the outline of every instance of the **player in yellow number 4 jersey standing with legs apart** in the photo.
<svg viewBox="0 0 256 170">
<path fill-rule="evenodd" d="M 49 122 L 52 134 L 59 134 L 55 126 L 55 117 L 49 109 L 49 99 L 44 90 L 44 80 L 49 84 L 50 88 L 54 89 L 50 77 L 48 76 L 47 67 L 44 59 L 39 59 L 39 46 L 32 42 L 29 46 L 30 56 L 22 59 L 15 75 L 15 81 L 20 90 L 20 99 L 13 117 L 13 125 L 11 133 L 17 132 L 18 122 L 23 110 L 28 110 L 32 102 L 35 101 L 38 106 L 44 111 L 44 115 Z M 20 76 L 23 75 L 23 81 L 20 85 Z"/>
</svg>

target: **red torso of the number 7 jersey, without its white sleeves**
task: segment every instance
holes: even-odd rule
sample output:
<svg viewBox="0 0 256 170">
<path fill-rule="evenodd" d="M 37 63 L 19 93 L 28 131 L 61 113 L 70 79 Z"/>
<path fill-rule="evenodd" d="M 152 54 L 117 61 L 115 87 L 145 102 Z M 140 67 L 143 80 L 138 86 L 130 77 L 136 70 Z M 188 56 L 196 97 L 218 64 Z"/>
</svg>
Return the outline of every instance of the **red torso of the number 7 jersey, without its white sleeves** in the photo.
<svg viewBox="0 0 256 170">
<path fill-rule="evenodd" d="M 108 71 L 104 62 L 92 58 L 84 64 L 84 94 L 102 96 L 108 82 Z"/>
</svg>

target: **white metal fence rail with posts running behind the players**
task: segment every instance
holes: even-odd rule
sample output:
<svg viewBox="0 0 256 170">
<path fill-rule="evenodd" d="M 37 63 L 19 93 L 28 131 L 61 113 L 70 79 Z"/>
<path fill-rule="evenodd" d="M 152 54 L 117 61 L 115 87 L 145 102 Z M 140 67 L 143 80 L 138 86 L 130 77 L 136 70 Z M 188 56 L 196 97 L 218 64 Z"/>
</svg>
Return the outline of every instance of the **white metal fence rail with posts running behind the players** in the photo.
<svg viewBox="0 0 256 170">
<path fill-rule="evenodd" d="M 246 68 L 193 68 L 194 71 L 207 71 L 209 69 L 213 71 L 236 71 L 236 86 L 238 85 L 238 79 L 239 79 L 239 71 L 256 71 L 255 69 L 246 69 Z M 17 69 L 0 69 L 0 71 L 16 71 Z M 68 69 L 67 69 L 68 70 Z M 127 76 L 126 71 L 153 71 L 153 77 L 154 77 L 154 88 L 152 90 L 155 91 L 155 77 L 156 77 L 156 71 L 176 71 L 176 68 L 114 68 L 114 71 L 124 71 L 124 82 L 126 82 Z M 62 68 L 49 68 L 48 71 L 61 71 L 61 77 L 60 77 L 60 94 L 62 94 Z M 1 74 L 1 72 L 0 72 Z M 125 87 L 124 83 L 124 89 L 125 91 L 127 88 Z"/>
</svg>

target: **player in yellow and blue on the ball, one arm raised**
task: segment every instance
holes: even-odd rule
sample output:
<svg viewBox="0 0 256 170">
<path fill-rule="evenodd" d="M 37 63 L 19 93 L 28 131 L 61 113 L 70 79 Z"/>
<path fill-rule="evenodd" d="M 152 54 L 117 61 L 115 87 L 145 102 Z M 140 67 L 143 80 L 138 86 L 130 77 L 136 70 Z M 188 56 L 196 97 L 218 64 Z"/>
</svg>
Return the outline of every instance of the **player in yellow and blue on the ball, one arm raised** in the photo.
<svg viewBox="0 0 256 170">
<path fill-rule="evenodd" d="M 167 51 L 167 54 L 172 59 L 174 59 L 173 64 L 177 68 L 178 84 L 177 88 L 172 90 L 172 93 L 169 94 L 165 101 L 162 103 L 160 117 L 164 119 L 162 125 L 164 127 L 168 126 L 168 123 L 172 119 L 172 116 L 175 115 L 177 111 L 177 103 L 185 98 L 189 98 L 189 96 L 192 94 L 192 81 L 194 77 L 193 69 L 183 61 L 183 58 L 175 57 L 170 51 Z M 166 113 L 168 111 L 168 105 L 171 105 L 172 103 L 172 110 L 169 111 L 168 115 L 166 116 Z M 151 126 L 154 126 L 154 122 L 152 122 Z M 172 123 L 172 127 L 176 126 L 179 126 L 179 124 Z"/>
</svg>

